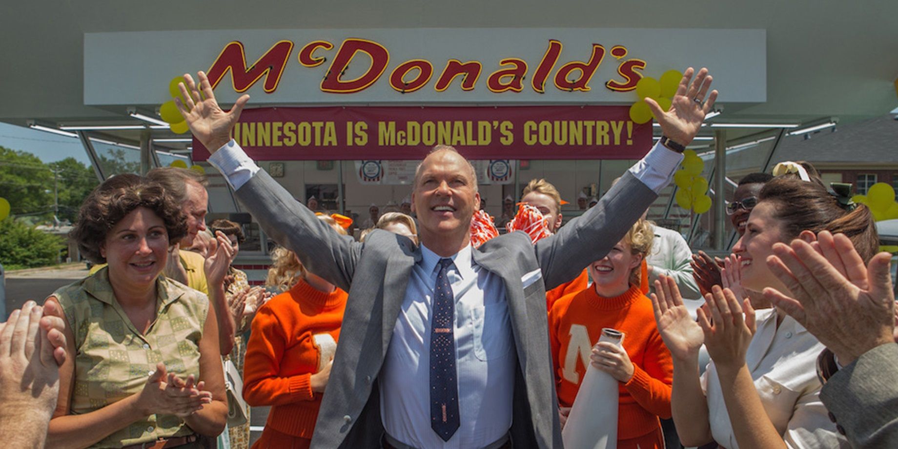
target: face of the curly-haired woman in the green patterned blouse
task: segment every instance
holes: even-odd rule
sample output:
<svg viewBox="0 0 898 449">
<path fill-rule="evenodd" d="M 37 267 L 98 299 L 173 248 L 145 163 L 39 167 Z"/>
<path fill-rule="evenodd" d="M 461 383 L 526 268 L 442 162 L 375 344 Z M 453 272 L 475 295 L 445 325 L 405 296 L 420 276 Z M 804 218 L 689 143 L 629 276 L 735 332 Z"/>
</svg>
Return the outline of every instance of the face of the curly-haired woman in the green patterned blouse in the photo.
<svg viewBox="0 0 898 449">
<path fill-rule="evenodd" d="M 168 247 L 163 219 L 146 207 L 137 207 L 106 234 L 100 253 L 109 263 L 110 278 L 147 286 L 165 268 Z"/>
</svg>

